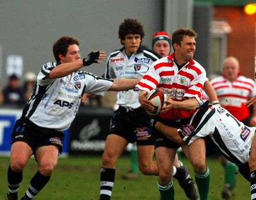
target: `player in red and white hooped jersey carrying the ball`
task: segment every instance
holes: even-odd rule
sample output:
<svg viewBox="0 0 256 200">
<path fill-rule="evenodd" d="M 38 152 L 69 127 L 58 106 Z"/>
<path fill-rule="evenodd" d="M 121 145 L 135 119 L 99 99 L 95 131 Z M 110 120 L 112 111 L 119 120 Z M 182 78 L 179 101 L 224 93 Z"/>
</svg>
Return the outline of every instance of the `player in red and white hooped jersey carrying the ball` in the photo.
<svg viewBox="0 0 256 200">
<path fill-rule="evenodd" d="M 163 89 L 169 96 L 166 106 L 163 107 L 158 116 L 163 124 L 178 127 L 186 124 L 196 106 L 200 103 L 202 89 L 204 86 L 206 73 L 205 69 L 195 60 L 195 38 L 197 34 L 191 29 L 178 29 L 172 34 L 172 46 L 174 53 L 168 57 L 154 62 L 147 74 L 136 85 L 141 90 L 139 101 L 145 109 L 153 109 L 147 94 L 156 87 Z M 161 132 L 154 129 L 156 135 L 156 159 L 159 168 L 158 188 L 161 198 L 174 199 L 174 189 L 172 182 L 172 165 L 179 144 L 173 143 Z M 193 148 L 202 147 L 202 151 Z M 200 199 L 207 199 L 209 192 L 209 169 L 205 165 L 204 140 L 196 141 L 194 146 L 189 148 L 189 160 L 195 169 L 195 180 L 198 185 Z M 192 159 L 193 158 L 193 159 Z"/>
</svg>

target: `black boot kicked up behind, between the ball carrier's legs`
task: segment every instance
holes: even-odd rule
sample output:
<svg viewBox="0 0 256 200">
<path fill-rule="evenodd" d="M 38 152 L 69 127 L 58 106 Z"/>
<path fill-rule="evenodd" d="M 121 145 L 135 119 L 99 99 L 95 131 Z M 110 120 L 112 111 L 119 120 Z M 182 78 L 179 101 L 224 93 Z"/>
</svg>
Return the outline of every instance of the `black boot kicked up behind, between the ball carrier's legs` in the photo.
<svg viewBox="0 0 256 200">
<path fill-rule="evenodd" d="M 192 178 L 189 175 L 189 169 L 186 166 L 180 167 L 180 169 L 184 170 L 185 176 L 183 180 L 179 180 L 180 187 L 184 190 L 186 196 L 191 200 L 198 200 L 198 189 L 196 185 L 193 183 Z"/>
</svg>

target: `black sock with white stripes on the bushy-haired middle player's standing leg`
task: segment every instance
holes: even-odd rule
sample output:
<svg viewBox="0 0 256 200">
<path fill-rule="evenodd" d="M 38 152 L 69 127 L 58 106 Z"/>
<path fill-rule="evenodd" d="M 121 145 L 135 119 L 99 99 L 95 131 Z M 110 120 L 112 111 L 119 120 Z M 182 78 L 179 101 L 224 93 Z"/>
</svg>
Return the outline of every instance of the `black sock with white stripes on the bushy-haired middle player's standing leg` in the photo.
<svg viewBox="0 0 256 200">
<path fill-rule="evenodd" d="M 115 169 L 101 168 L 100 170 L 100 200 L 109 200 L 115 182 Z"/>
</svg>

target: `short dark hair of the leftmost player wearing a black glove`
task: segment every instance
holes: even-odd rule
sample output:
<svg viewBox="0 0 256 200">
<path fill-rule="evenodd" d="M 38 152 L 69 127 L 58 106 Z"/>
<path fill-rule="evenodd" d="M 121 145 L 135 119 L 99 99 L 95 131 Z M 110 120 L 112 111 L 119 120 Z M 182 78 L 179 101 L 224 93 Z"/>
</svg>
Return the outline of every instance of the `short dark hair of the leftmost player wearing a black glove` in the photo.
<svg viewBox="0 0 256 200">
<path fill-rule="evenodd" d="M 72 38 L 70 36 L 62 36 L 56 42 L 54 42 L 52 46 L 52 51 L 54 54 L 54 58 L 56 59 L 57 63 L 60 63 L 59 54 L 66 56 L 68 47 L 70 45 L 77 45 L 79 46 L 79 41 L 76 38 Z"/>
</svg>

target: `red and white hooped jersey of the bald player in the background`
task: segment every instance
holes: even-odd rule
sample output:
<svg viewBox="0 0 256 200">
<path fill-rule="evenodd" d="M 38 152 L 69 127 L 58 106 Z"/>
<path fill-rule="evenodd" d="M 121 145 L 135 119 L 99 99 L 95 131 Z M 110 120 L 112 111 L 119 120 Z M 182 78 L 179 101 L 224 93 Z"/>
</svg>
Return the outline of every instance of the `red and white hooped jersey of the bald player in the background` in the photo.
<svg viewBox="0 0 256 200">
<path fill-rule="evenodd" d="M 249 117 L 250 110 L 244 103 L 256 95 L 256 85 L 252 79 L 240 75 L 230 82 L 222 75 L 212 79 L 211 84 L 223 108 L 240 121 Z"/>
</svg>

